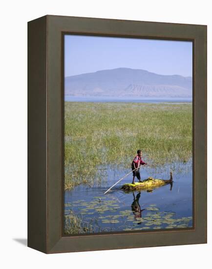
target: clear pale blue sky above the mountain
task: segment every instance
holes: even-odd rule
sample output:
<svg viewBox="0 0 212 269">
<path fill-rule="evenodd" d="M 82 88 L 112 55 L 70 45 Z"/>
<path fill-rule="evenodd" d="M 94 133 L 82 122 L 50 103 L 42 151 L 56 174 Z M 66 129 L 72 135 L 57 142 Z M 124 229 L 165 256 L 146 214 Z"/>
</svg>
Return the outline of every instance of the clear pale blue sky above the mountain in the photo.
<svg viewBox="0 0 212 269">
<path fill-rule="evenodd" d="M 65 35 L 65 76 L 129 67 L 192 76 L 192 42 Z"/>
</svg>

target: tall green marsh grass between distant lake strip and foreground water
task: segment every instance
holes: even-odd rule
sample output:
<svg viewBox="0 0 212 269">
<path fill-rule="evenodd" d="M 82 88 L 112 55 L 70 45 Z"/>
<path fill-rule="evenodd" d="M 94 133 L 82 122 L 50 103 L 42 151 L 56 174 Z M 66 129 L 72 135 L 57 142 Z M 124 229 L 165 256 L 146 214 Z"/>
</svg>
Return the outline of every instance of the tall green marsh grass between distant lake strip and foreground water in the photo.
<svg viewBox="0 0 212 269">
<path fill-rule="evenodd" d="M 65 102 L 65 189 L 101 181 L 99 167 L 130 168 L 141 149 L 151 167 L 192 156 L 192 104 Z"/>
</svg>

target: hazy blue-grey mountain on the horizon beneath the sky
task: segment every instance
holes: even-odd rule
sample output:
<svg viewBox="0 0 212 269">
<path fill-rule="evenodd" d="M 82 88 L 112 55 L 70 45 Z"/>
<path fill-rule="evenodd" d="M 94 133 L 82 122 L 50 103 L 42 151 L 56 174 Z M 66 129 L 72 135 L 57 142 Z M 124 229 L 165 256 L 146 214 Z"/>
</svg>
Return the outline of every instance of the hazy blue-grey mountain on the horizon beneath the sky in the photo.
<svg viewBox="0 0 212 269">
<path fill-rule="evenodd" d="M 65 96 L 191 98 L 192 78 L 120 67 L 65 77 Z"/>
</svg>

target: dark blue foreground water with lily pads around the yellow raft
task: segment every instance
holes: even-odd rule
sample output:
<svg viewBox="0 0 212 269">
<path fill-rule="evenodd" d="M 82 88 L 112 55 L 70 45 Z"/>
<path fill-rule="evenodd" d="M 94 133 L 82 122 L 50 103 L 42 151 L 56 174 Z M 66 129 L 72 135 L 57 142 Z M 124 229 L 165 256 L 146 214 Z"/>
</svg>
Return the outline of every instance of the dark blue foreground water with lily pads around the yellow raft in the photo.
<svg viewBox="0 0 212 269">
<path fill-rule="evenodd" d="M 156 170 L 141 167 L 141 179 L 153 177 L 170 179 L 173 171 L 173 184 L 150 191 L 125 192 L 124 183 L 131 183 L 132 175 L 127 176 L 111 189 L 104 192 L 130 169 L 107 168 L 102 170 L 105 180 L 92 187 L 78 185 L 65 191 L 64 214 L 70 210 L 82 219 L 90 232 L 114 232 L 133 230 L 176 229 L 192 227 L 192 162 L 166 165 Z M 135 179 L 136 181 L 137 179 Z"/>
</svg>

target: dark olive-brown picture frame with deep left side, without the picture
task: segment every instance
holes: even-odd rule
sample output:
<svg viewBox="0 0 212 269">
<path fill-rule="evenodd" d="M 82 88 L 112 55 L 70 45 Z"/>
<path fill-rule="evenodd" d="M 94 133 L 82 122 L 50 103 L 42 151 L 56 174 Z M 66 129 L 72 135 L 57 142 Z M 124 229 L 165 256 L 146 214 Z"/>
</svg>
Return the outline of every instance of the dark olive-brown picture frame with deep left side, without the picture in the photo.
<svg viewBox="0 0 212 269">
<path fill-rule="evenodd" d="M 64 235 L 65 33 L 192 41 L 192 229 Z M 28 247 L 59 253 L 203 243 L 207 243 L 207 26 L 51 15 L 28 22 Z"/>
</svg>

